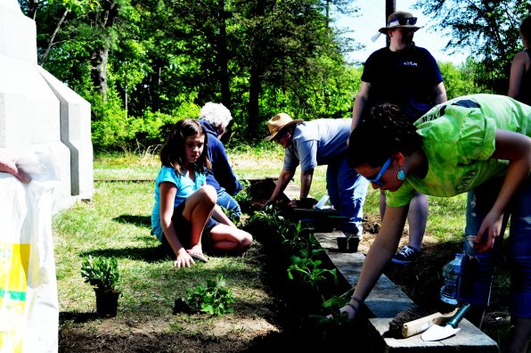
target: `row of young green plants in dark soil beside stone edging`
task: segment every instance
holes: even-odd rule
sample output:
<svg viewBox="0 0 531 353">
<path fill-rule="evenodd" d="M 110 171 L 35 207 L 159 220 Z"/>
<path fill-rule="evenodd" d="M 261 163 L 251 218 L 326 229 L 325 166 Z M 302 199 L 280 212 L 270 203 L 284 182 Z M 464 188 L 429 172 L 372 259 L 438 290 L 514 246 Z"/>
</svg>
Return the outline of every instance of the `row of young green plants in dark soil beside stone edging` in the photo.
<svg viewBox="0 0 531 353">
<path fill-rule="evenodd" d="M 254 232 L 262 234 L 265 251 L 274 254 L 271 261 L 276 271 L 284 274 L 290 306 L 297 307 L 294 311 L 299 323 L 321 332 L 347 325 L 347 314 L 340 314 L 339 308 L 348 301 L 351 288 L 340 283 L 337 269 L 314 236 L 313 226 L 285 217 L 274 205 L 255 211 L 249 226 L 259 229 Z"/>
</svg>

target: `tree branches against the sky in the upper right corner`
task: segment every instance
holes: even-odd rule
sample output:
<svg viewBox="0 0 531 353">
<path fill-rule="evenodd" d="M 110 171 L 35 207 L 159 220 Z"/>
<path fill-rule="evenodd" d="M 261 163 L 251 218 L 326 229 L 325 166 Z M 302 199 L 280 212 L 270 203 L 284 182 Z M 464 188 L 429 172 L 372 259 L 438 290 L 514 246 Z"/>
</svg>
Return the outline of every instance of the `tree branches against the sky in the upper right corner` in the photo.
<svg viewBox="0 0 531 353">
<path fill-rule="evenodd" d="M 519 50 L 519 21 L 531 11 L 527 0 L 422 0 L 415 8 L 450 34 L 446 48 L 466 49 L 481 62 L 478 84 L 507 93 L 512 57 Z"/>
</svg>

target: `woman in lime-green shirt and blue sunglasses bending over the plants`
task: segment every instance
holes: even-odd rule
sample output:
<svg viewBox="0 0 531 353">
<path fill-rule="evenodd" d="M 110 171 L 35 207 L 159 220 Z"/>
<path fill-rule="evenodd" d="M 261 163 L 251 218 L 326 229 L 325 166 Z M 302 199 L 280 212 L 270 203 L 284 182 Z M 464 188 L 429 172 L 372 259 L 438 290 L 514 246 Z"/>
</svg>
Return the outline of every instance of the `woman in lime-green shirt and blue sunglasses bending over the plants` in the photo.
<svg viewBox="0 0 531 353">
<path fill-rule="evenodd" d="M 414 123 L 394 104 L 375 106 L 349 136 L 347 160 L 386 193 L 380 232 L 354 295 L 340 310 L 354 318 L 393 257 L 415 192 L 468 193 L 458 300 L 480 326 L 488 306 L 494 255 L 511 217 L 511 321 L 505 352 L 525 353 L 531 337 L 531 106 L 495 94 L 438 104 Z"/>
</svg>

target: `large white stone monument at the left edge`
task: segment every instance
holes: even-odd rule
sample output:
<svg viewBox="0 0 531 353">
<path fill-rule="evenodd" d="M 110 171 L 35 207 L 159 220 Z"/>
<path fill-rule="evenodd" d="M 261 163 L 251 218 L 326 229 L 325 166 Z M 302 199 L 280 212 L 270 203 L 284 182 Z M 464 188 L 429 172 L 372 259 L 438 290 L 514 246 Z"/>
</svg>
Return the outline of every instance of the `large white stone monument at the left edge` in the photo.
<svg viewBox="0 0 531 353">
<path fill-rule="evenodd" d="M 54 211 L 94 194 L 90 104 L 37 65 L 37 27 L 16 0 L 0 1 L 0 150 L 56 161 Z"/>
</svg>

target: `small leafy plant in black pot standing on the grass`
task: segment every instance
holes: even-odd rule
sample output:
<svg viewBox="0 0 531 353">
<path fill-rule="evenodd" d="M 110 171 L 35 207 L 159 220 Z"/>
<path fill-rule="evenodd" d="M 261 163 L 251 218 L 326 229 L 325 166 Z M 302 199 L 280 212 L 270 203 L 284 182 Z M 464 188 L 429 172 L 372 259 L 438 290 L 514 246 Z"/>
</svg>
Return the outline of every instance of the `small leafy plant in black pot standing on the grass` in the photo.
<svg viewBox="0 0 531 353">
<path fill-rule="evenodd" d="M 81 276 L 85 278 L 85 283 L 90 283 L 94 287 L 98 316 L 116 316 L 120 294 L 118 260 L 116 258 L 93 258 L 89 255 L 81 265 Z"/>
</svg>

